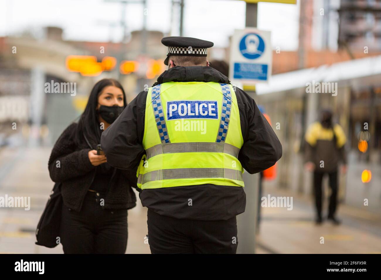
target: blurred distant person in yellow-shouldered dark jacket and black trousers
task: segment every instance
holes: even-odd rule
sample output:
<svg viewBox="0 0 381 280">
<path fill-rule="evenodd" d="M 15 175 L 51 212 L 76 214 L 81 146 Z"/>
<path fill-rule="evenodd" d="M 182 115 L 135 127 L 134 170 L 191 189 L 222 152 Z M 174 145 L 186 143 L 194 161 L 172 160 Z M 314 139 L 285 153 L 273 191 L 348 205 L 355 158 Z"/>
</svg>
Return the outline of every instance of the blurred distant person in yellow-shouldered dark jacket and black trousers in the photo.
<svg viewBox="0 0 381 280">
<path fill-rule="evenodd" d="M 342 172 L 346 173 L 347 158 L 344 145 L 346 136 L 338 124 L 333 124 L 332 111 L 323 109 L 320 113 L 320 121 L 312 123 L 306 131 L 305 140 L 305 167 L 308 171 L 314 171 L 314 195 L 316 205 L 316 223 L 322 223 L 322 179 L 328 174 L 331 195 L 328 206 L 328 220 L 334 224 L 340 221 L 336 218 L 338 197 L 338 165 L 343 162 Z"/>
</svg>

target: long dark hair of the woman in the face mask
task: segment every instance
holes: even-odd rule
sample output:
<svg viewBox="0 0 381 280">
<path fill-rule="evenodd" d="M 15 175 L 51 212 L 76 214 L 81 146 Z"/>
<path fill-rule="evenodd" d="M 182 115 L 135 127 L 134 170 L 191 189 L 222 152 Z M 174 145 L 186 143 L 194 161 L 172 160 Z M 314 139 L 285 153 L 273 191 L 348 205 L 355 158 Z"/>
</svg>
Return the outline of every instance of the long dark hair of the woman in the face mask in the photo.
<svg viewBox="0 0 381 280">
<path fill-rule="evenodd" d="M 96 107 L 98 106 L 98 96 L 106 86 L 116 86 L 117 88 L 120 88 L 123 93 L 123 105 L 124 107 L 127 106 L 126 94 L 122 85 L 117 80 L 103 79 L 97 82 L 91 90 L 85 111 L 83 111 L 78 120 L 77 133 L 75 135 L 77 144 L 82 142 L 84 135 L 86 137 L 85 139 L 90 142 L 93 149 L 96 148 L 97 144 L 101 143 L 101 134 L 103 130 L 101 130 Z"/>
</svg>

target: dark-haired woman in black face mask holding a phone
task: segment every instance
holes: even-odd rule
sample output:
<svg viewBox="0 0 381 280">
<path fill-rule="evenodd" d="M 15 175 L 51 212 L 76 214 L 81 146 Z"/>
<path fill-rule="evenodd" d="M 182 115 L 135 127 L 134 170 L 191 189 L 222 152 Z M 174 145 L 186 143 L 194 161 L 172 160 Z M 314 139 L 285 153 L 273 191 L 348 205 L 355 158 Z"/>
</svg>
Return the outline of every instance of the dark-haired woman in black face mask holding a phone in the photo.
<svg viewBox="0 0 381 280">
<path fill-rule="evenodd" d="M 131 186 L 136 170 L 119 170 L 96 147 L 101 134 L 126 107 L 117 80 L 103 79 L 91 90 L 78 123 L 54 144 L 48 167 L 61 183 L 61 243 L 64 253 L 120 253 L 127 246 L 127 210 L 136 206 Z"/>
</svg>

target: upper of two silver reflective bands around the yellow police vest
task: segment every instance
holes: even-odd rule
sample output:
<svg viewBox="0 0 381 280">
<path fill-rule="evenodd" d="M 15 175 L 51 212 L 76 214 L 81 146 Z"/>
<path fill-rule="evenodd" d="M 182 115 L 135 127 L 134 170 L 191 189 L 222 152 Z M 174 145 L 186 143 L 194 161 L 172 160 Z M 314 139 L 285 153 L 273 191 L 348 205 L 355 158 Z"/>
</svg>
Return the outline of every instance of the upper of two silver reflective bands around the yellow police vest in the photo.
<svg viewBox="0 0 381 280">
<path fill-rule="evenodd" d="M 147 159 L 161 154 L 172 153 L 189 153 L 189 152 L 210 152 L 210 153 L 225 153 L 238 158 L 239 148 L 227 144 L 216 142 L 182 142 L 157 144 L 146 150 Z"/>
</svg>

